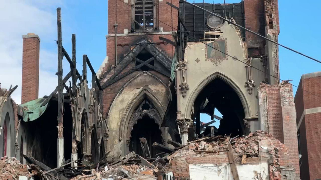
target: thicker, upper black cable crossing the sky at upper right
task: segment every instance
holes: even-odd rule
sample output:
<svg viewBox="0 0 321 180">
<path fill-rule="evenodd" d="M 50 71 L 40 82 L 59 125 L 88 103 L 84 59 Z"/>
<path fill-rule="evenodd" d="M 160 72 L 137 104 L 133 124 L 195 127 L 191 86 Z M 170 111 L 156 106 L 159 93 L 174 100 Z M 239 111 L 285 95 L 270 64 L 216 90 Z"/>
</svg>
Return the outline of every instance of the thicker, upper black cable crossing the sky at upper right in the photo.
<svg viewBox="0 0 321 180">
<path fill-rule="evenodd" d="M 260 34 L 257 34 L 257 33 L 254 32 L 254 31 L 251 31 L 251 30 L 249 30 L 249 29 L 247 29 L 247 28 L 244 28 L 244 27 L 242 27 L 242 26 L 234 23 L 233 21 L 230 21 L 230 20 L 228 20 L 228 19 L 226 19 L 226 18 L 224 18 L 224 17 L 222 17 L 222 16 L 220 16 L 220 15 L 218 15 L 218 14 L 215 14 L 215 13 L 213 13 L 213 12 L 210 12 L 210 11 L 208 11 L 208 10 L 206 10 L 206 9 L 198 6 L 198 5 L 195 5 L 195 4 L 193 4 L 193 3 L 187 2 L 186 0 L 181 0 L 181 1 L 183 1 L 184 3 L 190 4 L 190 5 L 196 7 L 196 8 L 198 8 L 198 9 L 200 9 L 200 10 L 203 10 L 203 11 L 205 11 L 205 12 L 208 12 L 208 13 L 210 13 L 210 14 L 218 17 L 218 18 L 221 18 L 222 20 L 225 20 L 225 21 L 233 24 L 234 26 L 237 26 L 237 27 L 239 27 L 239 28 L 241 28 L 241 29 L 244 29 L 244 30 L 246 30 L 247 32 L 250 32 L 250 33 L 252 33 L 252 34 L 255 34 L 256 36 L 262 37 L 262 38 L 264 38 L 265 40 L 271 41 L 272 43 L 275 43 L 275 44 L 277 44 L 277 45 L 280 45 L 280 46 L 282 46 L 282 47 L 284 47 L 284 48 L 286 48 L 286 49 L 288 49 L 288 50 L 290 50 L 290 51 L 293 51 L 293 52 L 298 53 L 298 54 L 300 54 L 300 55 L 302 55 L 302 56 L 305 56 L 305 57 L 307 57 L 307 58 L 309 58 L 309 59 L 312 59 L 313 61 L 317 61 L 317 62 L 321 63 L 321 61 L 319 61 L 319 60 L 317 60 L 317 59 L 314 59 L 314 58 L 312 58 L 312 57 L 310 57 L 310 56 L 308 56 L 308 55 L 305 55 L 305 54 L 300 53 L 300 52 L 298 52 L 298 51 L 296 51 L 296 50 L 294 50 L 294 49 L 291 49 L 291 48 L 289 48 L 289 47 L 287 47 L 287 46 L 285 46 L 285 45 L 282 45 L 282 44 L 280 44 L 280 43 L 278 43 L 278 42 L 276 42 L 276 41 L 273 41 L 272 39 L 269 39 L 269 38 L 264 37 L 264 36 L 262 36 L 262 35 L 260 35 Z"/>
</svg>

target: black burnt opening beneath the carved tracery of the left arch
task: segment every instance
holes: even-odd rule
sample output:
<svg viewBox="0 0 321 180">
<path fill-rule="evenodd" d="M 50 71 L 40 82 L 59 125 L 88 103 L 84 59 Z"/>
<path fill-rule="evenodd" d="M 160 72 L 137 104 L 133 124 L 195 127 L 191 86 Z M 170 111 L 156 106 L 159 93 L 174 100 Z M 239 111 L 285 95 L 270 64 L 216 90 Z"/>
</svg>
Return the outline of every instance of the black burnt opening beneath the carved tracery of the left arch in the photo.
<svg viewBox="0 0 321 180">
<path fill-rule="evenodd" d="M 151 156 L 155 157 L 155 154 L 159 153 L 158 151 L 154 151 L 152 144 L 154 142 L 162 143 L 161 131 L 159 129 L 159 125 L 156 124 L 154 119 L 150 118 L 148 115 L 138 119 L 137 124 L 133 127 L 131 135 L 129 151 L 135 151 L 136 154 L 143 156 L 143 150 L 139 138 L 144 137 L 147 140 Z"/>
</svg>

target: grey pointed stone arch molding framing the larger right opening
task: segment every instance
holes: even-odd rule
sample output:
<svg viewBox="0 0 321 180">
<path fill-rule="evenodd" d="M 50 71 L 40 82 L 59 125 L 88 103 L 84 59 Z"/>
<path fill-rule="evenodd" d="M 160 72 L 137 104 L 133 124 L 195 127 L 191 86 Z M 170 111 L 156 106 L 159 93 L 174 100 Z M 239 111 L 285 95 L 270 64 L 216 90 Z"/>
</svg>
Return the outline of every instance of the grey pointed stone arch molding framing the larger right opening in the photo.
<svg viewBox="0 0 321 180">
<path fill-rule="evenodd" d="M 216 71 L 212 75 L 208 76 L 203 81 L 201 81 L 198 85 L 196 85 L 196 87 L 194 88 L 192 93 L 189 95 L 188 101 L 186 104 L 186 108 L 185 108 L 185 118 L 186 119 L 191 118 L 190 115 L 192 112 L 192 108 L 193 108 L 194 102 L 195 102 L 198 94 L 204 89 L 204 87 L 206 85 L 208 85 L 215 78 L 221 78 L 225 83 L 227 83 L 229 86 L 231 86 L 234 89 L 234 91 L 236 92 L 236 94 L 238 94 L 238 96 L 242 102 L 245 117 L 249 117 L 250 116 L 249 104 L 248 104 L 246 97 L 245 97 L 244 93 L 242 92 L 241 88 L 231 78 L 229 78 L 228 76 L 226 76 L 225 74 L 223 74 L 220 71 Z"/>
</svg>

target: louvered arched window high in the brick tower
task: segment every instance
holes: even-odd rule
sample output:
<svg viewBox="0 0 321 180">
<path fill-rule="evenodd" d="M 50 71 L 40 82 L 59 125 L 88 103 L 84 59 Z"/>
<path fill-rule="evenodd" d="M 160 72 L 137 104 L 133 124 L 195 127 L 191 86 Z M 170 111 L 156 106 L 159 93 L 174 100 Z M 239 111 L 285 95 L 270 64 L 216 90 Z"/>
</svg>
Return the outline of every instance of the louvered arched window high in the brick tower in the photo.
<svg viewBox="0 0 321 180">
<path fill-rule="evenodd" d="M 136 0 L 134 12 L 134 31 L 153 31 L 155 29 L 153 0 Z"/>
</svg>

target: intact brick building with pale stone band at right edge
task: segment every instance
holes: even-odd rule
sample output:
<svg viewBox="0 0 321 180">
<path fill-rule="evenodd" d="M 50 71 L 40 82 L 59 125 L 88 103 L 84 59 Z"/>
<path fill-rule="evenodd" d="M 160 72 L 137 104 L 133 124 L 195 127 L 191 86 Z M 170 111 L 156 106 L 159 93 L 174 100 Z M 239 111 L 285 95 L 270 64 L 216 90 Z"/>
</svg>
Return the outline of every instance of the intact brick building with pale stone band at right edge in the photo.
<svg viewBox="0 0 321 180">
<path fill-rule="evenodd" d="M 294 102 L 299 139 L 301 179 L 321 178 L 321 72 L 301 76 Z"/>
</svg>

